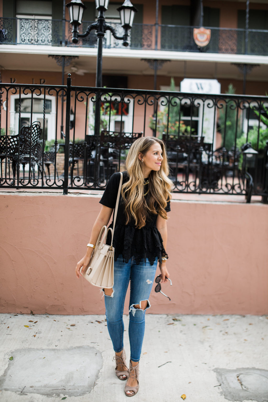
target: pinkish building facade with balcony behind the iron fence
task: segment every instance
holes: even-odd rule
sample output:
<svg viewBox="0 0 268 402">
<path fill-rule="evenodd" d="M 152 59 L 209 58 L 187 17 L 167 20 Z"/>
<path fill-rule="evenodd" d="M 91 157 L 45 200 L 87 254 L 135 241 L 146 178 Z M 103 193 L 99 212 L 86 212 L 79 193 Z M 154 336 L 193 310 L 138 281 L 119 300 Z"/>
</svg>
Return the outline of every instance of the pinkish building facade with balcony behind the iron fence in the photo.
<svg viewBox="0 0 268 402">
<path fill-rule="evenodd" d="M 94 1 L 84 4 L 87 8 L 80 26 L 81 33 L 96 21 L 98 14 Z M 110 1 L 105 13 L 106 21 L 114 26 L 118 35 L 122 34 L 117 11 L 120 5 Z M 109 31 L 106 33 L 104 86 L 168 90 L 173 77 L 176 90 L 183 92 L 225 93 L 229 84 L 237 94 L 264 96 L 268 92 L 268 0 L 148 0 L 135 3 L 135 7 L 138 12 L 129 47 L 123 47 Z M 65 1 L 1 0 L 0 13 L 2 82 L 59 85 L 65 84 L 67 74 L 71 73 L 72 85 L 95 86 L 96 33 L 92 31 L 77 45 L 72 43 L 72 27 L 68 22 Z M 198 46 L 194 41 L 194 27 L 201 26 L 210 31 L 211 38 L 206 46 Z M 188 91 L 181 86 L 185 80 L 188 80 Z M 211 89 L 215 80 L 219 83 L 217 92 Z M 31 102 L 27 100 L 27 94 L 22 98 L 21 118 L 23 124 L 29 124 Z M 55 131 L 64 125 L 58 119 L 55 129 L 57 107 L 55 96 L 47 95 L 45 139 L 48 140 L 55 138 Z M 80 109 L 76 111 L 77 117 Z M 18 95 L 10 97 L 9 112 L 8 125 L 16 132 Z M 32 112 L 33 121 L 42 121 L 43 103 L 38 96 L 33 101 Z M 84 113 L 82 109 L 81 113 Z M 89 134 L 92 115 L 93 110 L 89 109 Z M 118 115 L 117 119 L 115 113 L 111 120 L 110 130 L 130 131 L 133 120 L 131 104 Z M 138 115 L 135 118 L 138 119 Z M 84 120 L 81 127 L 79 121 L 76 118 L 76 137 L 82 138 Z M 150 133 L 146 123 L 145 135 Z M 220 139 L 217 145 L 220 145 Z"/>
</svg>

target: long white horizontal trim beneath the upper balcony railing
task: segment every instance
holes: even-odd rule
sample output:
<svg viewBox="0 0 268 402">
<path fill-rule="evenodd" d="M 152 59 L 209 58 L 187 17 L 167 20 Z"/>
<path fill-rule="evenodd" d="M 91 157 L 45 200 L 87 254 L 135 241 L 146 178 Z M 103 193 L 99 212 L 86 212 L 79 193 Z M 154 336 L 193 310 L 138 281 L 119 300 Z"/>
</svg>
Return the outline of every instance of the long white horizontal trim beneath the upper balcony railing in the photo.
<svg viewBox="0 0 268 402">
<path fill-rule="evenodd" d="M 97 49 L 91 47 L 61 47 L 50 45 L 4 45 L 0 46 L 0 53 L 29 53 L 29 54 L 55 54 L 55 55 L 76 55 L 94 56 Z M 146 55 L 149 59 L 180 60 L 196 62 L 219 62 L 219 63 L 246 63 L 246 64 L 268 64 L 268 56 L 258 55 L 237 55 L 223 53 L 196 53 L 164 50 L 142 50 L 142 49 L 103 49 L 104 57 L 123 57 L 141 59 Z"/>
</svg>

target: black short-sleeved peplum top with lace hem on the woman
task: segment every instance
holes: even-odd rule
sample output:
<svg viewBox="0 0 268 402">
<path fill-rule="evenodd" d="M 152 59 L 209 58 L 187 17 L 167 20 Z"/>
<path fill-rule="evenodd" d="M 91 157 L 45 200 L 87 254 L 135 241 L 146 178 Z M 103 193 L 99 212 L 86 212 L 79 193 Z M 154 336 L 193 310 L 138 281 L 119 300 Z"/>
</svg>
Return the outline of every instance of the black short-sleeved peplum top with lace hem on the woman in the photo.
<svg viewBox="0 0 268 402">
<path fill-rule="evenodd" d="M 126 183 L 127 180 L 128 174 L 125 171 L 123 172 L 123 184 Z M 146 181 L 147 179 L 145 179 L 145 183 Z M 115 208 L 119 183 L 120 173 L 114 173 L 106 185 L 100 204 L 109 208 Z M 147 190 L 148 186 L 145 184 L 144 194 L 146 194 Z M 145 199 L 147 197 L 149 197 L 149 194 L 145 195 Z M 170 211 L 170 201 L 168 201 L 166 211 Z M 122 254 L 126 263 L 133 256 L 135 257 L 137 264 L 141 261 L 145 262 L 146 258 L 148 258 L 150 264 L 153 265 L 155 257 L 161 259 L 164 247 L 161 234 L 156 228 L 157 217 L 157 214 L 149 213 L 149 216 L 146 219 L 146 224 L 141 229 L 135 227 L 134 221 L 130 221 L 126 225 L 127 218 L 125 215 L 124 202 L 122 195 L 120 196 L 113 238 L 115 261 L 120 254 Z M 109 228 L 113 228 L 113 222 L 110 224 Z M 109 230 L 107 244 L 110 244 L 110 242 L 111 235 Z"/>
</svg>

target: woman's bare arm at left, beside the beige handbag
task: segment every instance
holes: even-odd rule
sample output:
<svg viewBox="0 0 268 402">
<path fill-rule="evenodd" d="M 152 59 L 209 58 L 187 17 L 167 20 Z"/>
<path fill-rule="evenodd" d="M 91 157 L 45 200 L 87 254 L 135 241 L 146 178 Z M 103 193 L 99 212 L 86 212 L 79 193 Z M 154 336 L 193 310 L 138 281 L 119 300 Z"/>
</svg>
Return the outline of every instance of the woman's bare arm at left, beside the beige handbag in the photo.
<svg viewBox="0 0 268 402">
<path fill-rule="evenodd" d="M 112 212 L 113 212 L 113 208 L 108 208 L 108 207 L 105 207 L 104 205 L 102 205 L 102 207 L 100 209 L 100 213 L 98 214 L 98 217 L 92 227 L 89 243 L 96 244 L 96 241 L 98 240 L 98 235 L 100 234 L 100 230 L 101 230 L 102 226 L 108 225 Z M 86 266 L 88 265 L 92 252 L 93 252 L 93 248 L 87 247 L 86 254 L 80 261 L 78 261 L 78 263 L 76 265 L 76 276 L 78 278 L 79 278 L 79 275 L 82 276 L 80 273 L 81 267 L 83 267 L 82 272 L 84 272 Z"/>
</svg>

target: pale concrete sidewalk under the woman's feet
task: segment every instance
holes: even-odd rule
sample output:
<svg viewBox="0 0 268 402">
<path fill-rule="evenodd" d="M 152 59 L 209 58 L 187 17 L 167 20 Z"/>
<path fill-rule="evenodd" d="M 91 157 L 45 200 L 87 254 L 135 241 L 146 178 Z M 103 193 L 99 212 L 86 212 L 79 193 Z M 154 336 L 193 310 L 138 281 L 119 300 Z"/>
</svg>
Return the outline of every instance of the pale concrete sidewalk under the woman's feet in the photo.
<svg viewBox="0 0 268 402">
<path fill-rule="evenodd" d="M 0 322 L 1 402 L 126 401 L 104 316 Z M 268 317 L 147 314 L 140 371 L 136 402 L 268 401 Z"/>
</svg>

